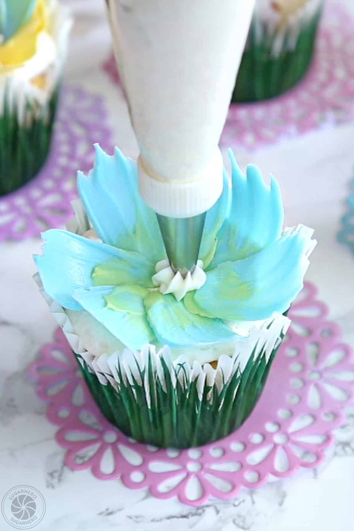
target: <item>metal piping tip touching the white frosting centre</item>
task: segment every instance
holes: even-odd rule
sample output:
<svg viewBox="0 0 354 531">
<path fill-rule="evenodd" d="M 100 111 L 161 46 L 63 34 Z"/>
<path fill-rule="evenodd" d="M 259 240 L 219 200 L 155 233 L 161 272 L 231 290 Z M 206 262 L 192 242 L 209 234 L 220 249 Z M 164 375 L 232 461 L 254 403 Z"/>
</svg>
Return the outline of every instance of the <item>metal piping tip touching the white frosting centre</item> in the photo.
<svg viewBox="0 0 354 531">
<path fill-rule="evenodd" d="M 183 277 L 193 272 L 198 260 L 206 212 L 193 218 L 169 218 L 157 214 L 163 243 L 174 271 Z"/>
</svg>

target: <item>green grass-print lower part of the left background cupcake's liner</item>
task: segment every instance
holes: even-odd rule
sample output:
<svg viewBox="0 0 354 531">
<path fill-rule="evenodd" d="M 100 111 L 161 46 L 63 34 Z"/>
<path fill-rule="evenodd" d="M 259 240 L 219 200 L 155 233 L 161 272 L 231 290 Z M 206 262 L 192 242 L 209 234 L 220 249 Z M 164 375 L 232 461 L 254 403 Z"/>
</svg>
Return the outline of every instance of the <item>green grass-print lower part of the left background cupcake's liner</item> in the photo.
<svg viewBox="0 0 354 531">
<path fill-rule="evenodd" d="M 6 85 L 0 115 L 0 196 L 28 183 L 44 165 L 59 92 L 58 83 L 46 104 L 29 99 L 20 103 Z"/>
</svg>

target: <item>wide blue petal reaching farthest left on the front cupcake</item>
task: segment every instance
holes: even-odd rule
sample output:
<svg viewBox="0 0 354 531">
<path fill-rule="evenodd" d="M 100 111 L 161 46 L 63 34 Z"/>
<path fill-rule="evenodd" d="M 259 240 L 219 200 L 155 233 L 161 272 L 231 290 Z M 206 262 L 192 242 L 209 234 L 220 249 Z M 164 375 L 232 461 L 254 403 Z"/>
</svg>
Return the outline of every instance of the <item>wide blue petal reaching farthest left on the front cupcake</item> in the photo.
<svg viewBox="0 0 354 531">
<path fill-rule="evenodd" d="M 110 277 L 117 285 L 135 283 L 137 279 L 142 285 L 149 279 L 151 282 L 153 264 L 137 253 L 94 242 L 66 230 L 47 230 L 42 239 L 45 242 L 43 254 L 34 256 L 42 284 L 51 298 L 69 310 L 82 309 L 73 297 L 75 290 L 99 284 L 100 272 L 105 276 L 105 265 L 113 271 Z M 93 271 L 97 271 L 94 281 Z"/>
</svg>

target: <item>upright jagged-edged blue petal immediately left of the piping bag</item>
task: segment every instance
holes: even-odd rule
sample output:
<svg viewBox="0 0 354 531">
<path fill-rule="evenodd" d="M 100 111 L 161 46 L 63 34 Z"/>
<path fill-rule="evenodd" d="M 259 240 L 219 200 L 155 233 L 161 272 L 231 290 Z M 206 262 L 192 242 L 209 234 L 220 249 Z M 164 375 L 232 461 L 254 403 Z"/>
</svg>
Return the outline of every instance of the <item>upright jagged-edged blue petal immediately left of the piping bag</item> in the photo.
<svg viewBox="0 0 354 531">
<path fill-rule="evenodd" d="M 135 251 L 154 263 L 166 256 L 156 214 L 140 197 L 136 162 L 115 148 L 113 156 L 95 145 L 94 167 L 77 173 L 77 189 L 102 242 Z"/>
</svg>

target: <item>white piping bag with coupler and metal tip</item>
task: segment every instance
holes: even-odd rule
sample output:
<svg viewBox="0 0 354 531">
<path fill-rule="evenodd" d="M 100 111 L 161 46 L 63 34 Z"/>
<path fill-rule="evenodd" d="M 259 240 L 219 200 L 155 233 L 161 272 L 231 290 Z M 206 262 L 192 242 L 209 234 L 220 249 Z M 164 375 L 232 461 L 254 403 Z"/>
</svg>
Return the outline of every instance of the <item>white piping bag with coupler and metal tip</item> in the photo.
<svg viewBox="0 0 354 531">
<path fill-rule="evenodd" d="M 255 0 L 106 0 L 139 144 L 142 199 L 172 269 L 193 272 L 223 187 L 218 143 Z"/>
</svg>

